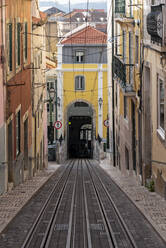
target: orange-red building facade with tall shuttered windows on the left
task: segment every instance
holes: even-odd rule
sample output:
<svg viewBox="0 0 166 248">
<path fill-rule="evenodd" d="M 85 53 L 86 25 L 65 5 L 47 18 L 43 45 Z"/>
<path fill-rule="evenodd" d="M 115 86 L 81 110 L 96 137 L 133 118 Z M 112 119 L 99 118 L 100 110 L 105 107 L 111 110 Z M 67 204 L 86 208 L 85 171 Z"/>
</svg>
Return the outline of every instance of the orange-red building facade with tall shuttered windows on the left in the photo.
<svg viewBox="0 0 166 248">
<path fill-rule="evenodd" d="M 32 173 L 31 2 L 6 1 L 8 186 Z"/>
</svg>

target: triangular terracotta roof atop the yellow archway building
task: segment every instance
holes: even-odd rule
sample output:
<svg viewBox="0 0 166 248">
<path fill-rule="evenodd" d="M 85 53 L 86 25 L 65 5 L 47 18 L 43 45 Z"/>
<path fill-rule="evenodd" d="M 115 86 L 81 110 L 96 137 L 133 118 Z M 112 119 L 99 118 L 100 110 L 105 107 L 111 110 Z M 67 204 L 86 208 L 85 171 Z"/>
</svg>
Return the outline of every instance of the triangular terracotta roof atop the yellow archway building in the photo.
<svg viewBox="0 0 166 248">
<path fill-rule="evenodd" d="M 63 39 L 61 44 L 105 44 L 107 35 L 91 26 Z"/>
</svg>

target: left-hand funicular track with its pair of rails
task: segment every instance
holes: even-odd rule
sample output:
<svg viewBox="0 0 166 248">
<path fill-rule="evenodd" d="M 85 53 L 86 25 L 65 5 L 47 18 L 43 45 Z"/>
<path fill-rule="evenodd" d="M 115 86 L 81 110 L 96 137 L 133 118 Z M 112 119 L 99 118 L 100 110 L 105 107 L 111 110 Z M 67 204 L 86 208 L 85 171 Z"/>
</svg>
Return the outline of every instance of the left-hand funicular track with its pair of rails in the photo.
<svg viewBox="0 0 166 248">
<path fill-rule="evenodd" d="M 49 194 L 21 248 L 45 247 L 47 235 L 57 214 L 57 209 L 62 202 L 67 181 L 71 177 L 73 166 L 74 161 L 70 161 L 68 167 L 66 167 Z"/>
</svg>

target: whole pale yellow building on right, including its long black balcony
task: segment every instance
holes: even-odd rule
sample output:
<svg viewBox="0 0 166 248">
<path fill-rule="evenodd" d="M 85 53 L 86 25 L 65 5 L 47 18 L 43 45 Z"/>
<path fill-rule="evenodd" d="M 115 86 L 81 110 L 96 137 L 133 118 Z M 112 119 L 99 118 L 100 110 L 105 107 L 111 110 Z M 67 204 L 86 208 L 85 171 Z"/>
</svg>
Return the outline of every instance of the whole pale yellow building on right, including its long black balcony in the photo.
<svg viewBox="0 0 166 248">
<path fill-rule="evenodd" d="M 109 2 L 108 28 L 112 31 L 112 1 Z M 113 13 L 114 30 L 111 34 L 108 30 L 108 41 L 114 56 L 112 60 L 111 50 L 108 59 L 111 61 L 109 72 L 112 73 L 112 68 L 114 71 L 108 85 L 114 84 L 115 165 L 123 173 L 130 171 L 142 175 L 139 114 L 142 1 L 132 1 L 130 4 L 129 1 L 115 1 Z"/>
</svg>

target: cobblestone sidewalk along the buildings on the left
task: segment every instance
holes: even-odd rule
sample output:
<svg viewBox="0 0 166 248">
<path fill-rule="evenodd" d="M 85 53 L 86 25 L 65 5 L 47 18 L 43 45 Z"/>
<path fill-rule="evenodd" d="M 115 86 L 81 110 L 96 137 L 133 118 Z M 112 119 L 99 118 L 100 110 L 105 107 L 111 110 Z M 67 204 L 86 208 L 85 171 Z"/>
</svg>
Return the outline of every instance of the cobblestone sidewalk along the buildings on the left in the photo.
<svg viewBox="0 0 166 248">
<path fill-rule="evenodd" d="M 0 196 L 0 233 L 57 168 L 59 165 L 49 163 L 47 169 Z"/>
</svg>

